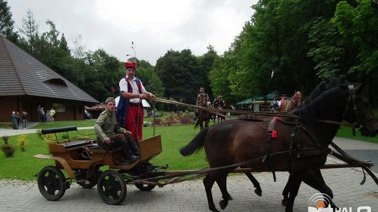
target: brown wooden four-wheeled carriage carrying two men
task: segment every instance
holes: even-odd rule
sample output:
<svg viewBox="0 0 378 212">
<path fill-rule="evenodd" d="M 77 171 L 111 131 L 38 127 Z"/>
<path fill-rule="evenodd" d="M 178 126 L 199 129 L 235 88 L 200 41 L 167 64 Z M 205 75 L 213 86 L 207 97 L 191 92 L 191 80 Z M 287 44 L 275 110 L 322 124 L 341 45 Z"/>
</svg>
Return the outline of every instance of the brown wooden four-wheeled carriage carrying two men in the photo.
<svg viewBox="0 0 378 212">
<path fill-rule="evenodd" d="M 41 130 L 43 135 L 77 130 L 76 126 Z M 134 184 L 140 190 L 152 190 L 155 185 L 134 183 L 141 177 L 153 174 L 155 167 L 148 162 L 162 152 L 160 135 L 139 142 L 141 158 L 132 164 L 118 165 L 115 161 L 123 157 L 122 149 L 99 146 L 92 140 L 71 142 L 70 139 L 50 142 L 51 156 L 38 154 L 35 158 L 55 160 L 55 166 L 47 166 L 38 173 L 38 188 L 48 200 L 60 199 L 72 181 L 83 188 L 97 185 L 100 197 L 106 204 L 120 204 L 126 197 L 126 184 Z M 100 167 L 109 166 L 102 171 Z M 164 167 L 163 167 L 164 168 Z M 66 172 L 64 175 L 62 171 Z"/>
</svg>

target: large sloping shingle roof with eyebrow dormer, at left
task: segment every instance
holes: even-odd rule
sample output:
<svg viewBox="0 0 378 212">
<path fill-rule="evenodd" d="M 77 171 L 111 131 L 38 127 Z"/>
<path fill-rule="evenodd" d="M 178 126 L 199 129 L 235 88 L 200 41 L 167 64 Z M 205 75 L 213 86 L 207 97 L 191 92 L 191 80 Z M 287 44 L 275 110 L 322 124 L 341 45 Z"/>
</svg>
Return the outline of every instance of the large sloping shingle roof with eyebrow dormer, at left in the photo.
<svg viewBox="0 0 378 212">
<path fill-rule="evenodd" d="M 48 83 L 49 81 L 60 82 L 62 85 Z M 20 47 L 0 36 L 0 96 L 18 95 L 99 103 Z"/>
</svg>

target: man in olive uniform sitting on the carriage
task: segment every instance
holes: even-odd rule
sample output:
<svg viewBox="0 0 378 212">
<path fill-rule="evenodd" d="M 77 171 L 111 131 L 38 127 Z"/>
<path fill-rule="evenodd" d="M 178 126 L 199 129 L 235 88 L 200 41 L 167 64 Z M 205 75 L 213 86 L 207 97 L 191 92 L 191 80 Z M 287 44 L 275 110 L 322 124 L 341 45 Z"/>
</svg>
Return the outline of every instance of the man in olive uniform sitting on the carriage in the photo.
<svg viewBox="0 0 378 212">
<path fill-rule="evenodd" d="M 114 111 L 116 110 L 116 101 L 113 97 L 106 98 L 105 111 L 99 115 L 94 124 L 94 131 L 97 135 L 99 145 L 109 145 L 111 140 L 115 147 L 122 147 L 124 156 L 120 161 L 116 161 L 119 165 L 133 163 L 140 158 L 140 152 L 137 144 L 130 135 L 132 132 L 120 128 Z"/>
</svg>

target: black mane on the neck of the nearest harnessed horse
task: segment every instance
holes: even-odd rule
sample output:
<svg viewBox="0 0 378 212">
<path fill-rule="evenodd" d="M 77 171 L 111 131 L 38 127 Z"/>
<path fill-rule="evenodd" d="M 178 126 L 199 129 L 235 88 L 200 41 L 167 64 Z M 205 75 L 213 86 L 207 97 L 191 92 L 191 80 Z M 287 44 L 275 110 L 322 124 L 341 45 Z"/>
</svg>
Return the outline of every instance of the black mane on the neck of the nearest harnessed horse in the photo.
<svg viewBox="0 0 378 212">
<path fill-rule="evenodd" d="M 319 85 L 324 86 L 325 84 Z M 339 84 L 323 91 L 323 93 L 319 91 L 314 90 L 315 93 L 311 93 L 311 98 L 307 99 L 306 104 L 295 109 L 293 114 L 300 116 L 302 121 L 324 119 L 325 115 L 330 115 L 333 119 L 341 119 L 341 116 L 337 115 L 344 110 L 346 96 L 348 95 L 348 92 L 346 92 L 348 91 L 347 86 Z"/>
</svg>

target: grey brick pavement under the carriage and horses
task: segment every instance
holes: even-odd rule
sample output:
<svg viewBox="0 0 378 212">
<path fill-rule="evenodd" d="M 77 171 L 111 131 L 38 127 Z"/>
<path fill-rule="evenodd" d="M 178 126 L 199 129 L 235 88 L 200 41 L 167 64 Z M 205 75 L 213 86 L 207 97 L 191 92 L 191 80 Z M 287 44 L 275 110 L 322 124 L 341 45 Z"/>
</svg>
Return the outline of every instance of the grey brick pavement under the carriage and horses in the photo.
<svg viewBox="0 0 378 212">
<path fill-rule="evenodd" d="M 330 158 L 331 162 L 336 159 Z M 359 169 L 324 169 L 325 182 L 332 188 L 334 202 L 339 207 L 371 206 L 378 211 L 378 186 L 367 176 L 366 183 L 359 185 L 363 178 Z M 281 206 L 281 191 L 288 174 L 254 174 L 262 186 L 262 197 L 253 192 L 254 188 L 246 176 L 229 176 L 228 190 L 233 197 L 225 211 L 284 211 Z M 309 198 L 316 190 L 302 183 L 295 199 L 294 211 L 307 211 Z M 213 188 L 214 202 L 221 200 L 217 185 Z M 164 188 L 155 188 L 151 192 L 141 192 L 134 185 L 127 185 L 127 197 L 123 204 L 110 206 L 104 204 L 97 194 L 97 188 L 83 189 L 76 183 L 57 202 L 46 200 L 38 191 L 36 181 L 0 180 L 0 211 L 209 211 L 201 180 L 185 181 Z M 348 211 L 349 212 L 349 211 Z"/>
</svg>

